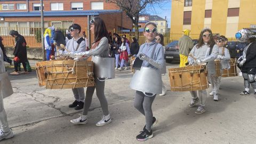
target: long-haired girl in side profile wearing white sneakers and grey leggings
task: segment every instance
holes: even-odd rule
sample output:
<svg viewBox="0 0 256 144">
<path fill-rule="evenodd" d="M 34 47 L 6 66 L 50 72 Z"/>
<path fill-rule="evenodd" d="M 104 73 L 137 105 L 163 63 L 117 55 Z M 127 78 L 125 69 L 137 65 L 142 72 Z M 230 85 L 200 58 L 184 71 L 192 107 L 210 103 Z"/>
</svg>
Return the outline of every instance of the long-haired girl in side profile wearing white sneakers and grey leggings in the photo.
<svg viewBox="0 0 256 144">
<path fill-rule="evenodd" d="M 109 35 L 104 21 L 99 18 L 92 18 L 91 21 L 91 32 L 94 35 L 94 41 L 92 43 L 92 48 L 89 51 L 81 53 L 70 53 L 71 55 L 83 55 L 85 57 L 98 56 L 101 58 L 108 58 L 109 54 Z M 66 53 L 68 54 L 68 53 Z M 95 57 L 92 57 L 92 61 Z M 83 113 L 76 119 L 71 119 L 70 122 L 74 124 L 86 124 L 88 122 L 87 113 L 92 103 L 92 96 L 94 90 L 96 89 L 96 95 L 100 101 L 103 116 L 102 119 L 96 124 L 96 126 L 103 126 L 111 122 L 110 114 L 108 111 L 108 102 L 104 94 L 105 81 L 101 78 L 94 77 L 95 86 L 87 87 L 86 96 L 84 100 Z"/>
</svg>

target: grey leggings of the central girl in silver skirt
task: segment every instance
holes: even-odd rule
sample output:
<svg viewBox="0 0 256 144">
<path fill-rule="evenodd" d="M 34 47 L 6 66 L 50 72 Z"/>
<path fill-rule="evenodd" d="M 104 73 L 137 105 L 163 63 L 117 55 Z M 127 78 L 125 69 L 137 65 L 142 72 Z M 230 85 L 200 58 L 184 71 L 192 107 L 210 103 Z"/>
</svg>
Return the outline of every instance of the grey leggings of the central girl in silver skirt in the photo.
<svg viewBox="0 0 256 144">
<path fill-rule="evenodd" d="M 153 121 L 153 112 L 151 109 L 152 103 L 156 97 L 148 97 L 140 91 L 136 91 L 134 99 L 134 107 L 140 111 L 141 114 L 145 115 L 146 118 L 146 129 L 151 131 L 151 125 Z"/>
</svg>

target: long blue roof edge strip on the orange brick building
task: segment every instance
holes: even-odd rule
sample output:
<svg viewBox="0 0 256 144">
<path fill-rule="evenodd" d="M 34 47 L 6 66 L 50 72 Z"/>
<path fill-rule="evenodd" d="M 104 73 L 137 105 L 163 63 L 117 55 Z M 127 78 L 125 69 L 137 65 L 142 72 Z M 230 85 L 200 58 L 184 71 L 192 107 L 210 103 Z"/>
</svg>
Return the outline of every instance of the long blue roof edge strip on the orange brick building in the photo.
<svg viewBox="0 0 256 144">
<path fill-rule="evenodd" d="M 44 16 L 82 16 L 99 15 L 103 13 L 119 13 L 121 10 L 89 10 L 89 11 L 44 11 Z M 41 11 L 32 12 L 0 12 L 0 17 L 40 17 Z"/>
</svg>

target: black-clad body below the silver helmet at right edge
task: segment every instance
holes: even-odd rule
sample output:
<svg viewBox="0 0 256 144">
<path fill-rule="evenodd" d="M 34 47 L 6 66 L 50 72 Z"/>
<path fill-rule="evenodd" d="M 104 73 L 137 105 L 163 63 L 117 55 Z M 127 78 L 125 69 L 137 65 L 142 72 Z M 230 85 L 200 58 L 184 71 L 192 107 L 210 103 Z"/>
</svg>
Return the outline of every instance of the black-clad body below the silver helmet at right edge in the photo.
<svg viewBox="0 0 256 144">
<path fill-rule="evenodd" d="M 239 67 L 243 73 L 245 91 L 241 95 L 250 95 L 250 84 L 254 89 L 254 97 L 256 97 L 256 37 L 251 36 L 248 41 L 249 44 L 244 48 L 242 60 L 239 58 Z"/>
</svg>

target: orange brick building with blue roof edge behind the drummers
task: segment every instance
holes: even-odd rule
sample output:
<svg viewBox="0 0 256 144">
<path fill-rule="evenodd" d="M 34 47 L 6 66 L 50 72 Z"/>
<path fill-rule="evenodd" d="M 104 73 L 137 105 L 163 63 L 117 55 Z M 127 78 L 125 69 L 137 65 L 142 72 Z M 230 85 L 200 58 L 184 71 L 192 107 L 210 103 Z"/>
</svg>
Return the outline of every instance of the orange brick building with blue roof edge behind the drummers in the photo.
<svg viewBox="0 0 256 144">
<path fill-rule="evenodd" d="M 106 0 L 47 0 L 44 6 L 44 28 L 58 27 L 67 29 L 72 23 L 81 25 L 82 31 L 89 31 L 88 17 L 101 17 L 108 31 L 132 30 L 132 21 L 118 7 Z M 0 36 L 10 37 L 11 29 L 21 35 L 32 37 L 29 45 L 38 45 L 41 32 L 41 4 L 39 0 L 0 0 Z M 39 34 L 40 33 L 40 34 Z M 37 41 L 36 41 L 37 39 Z M 41 39 L 41 38 L 39 38 Z M 4 41 L 12 45 L 11 41 Z"/>
</svg>

